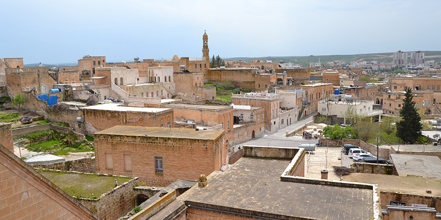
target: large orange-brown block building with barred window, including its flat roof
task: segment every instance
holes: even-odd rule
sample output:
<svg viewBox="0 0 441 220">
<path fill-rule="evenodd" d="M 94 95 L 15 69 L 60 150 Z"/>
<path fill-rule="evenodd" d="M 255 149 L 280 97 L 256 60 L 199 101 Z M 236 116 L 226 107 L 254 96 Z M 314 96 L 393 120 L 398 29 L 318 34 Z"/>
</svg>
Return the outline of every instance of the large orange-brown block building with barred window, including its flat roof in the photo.
<svg viewBox="0 0 441 220">
<path fill-rule="evenodd" d="M 138 176 L 147 185 L 198 179 L 227 163 L 222 129 L 114 126 L 94 138 L 98 173 Z"/>
</svg>

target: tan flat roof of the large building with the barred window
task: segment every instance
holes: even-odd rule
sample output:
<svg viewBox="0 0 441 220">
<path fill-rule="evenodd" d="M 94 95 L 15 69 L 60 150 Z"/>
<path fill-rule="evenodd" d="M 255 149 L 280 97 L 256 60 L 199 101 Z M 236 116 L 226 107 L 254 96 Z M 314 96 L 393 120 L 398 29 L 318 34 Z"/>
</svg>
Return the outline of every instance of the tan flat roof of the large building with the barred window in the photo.
<svg viewBox="0 0 441 220">
<path fill-rule="evenodd" d="M 150 136 L 150 137 L 170 137 L 186 139 L 206 139 L 214 140 L 222 135 L 224 130 L 195 130 L 190 128 L 168 128 L 168 127 L 144 127 L 144 126 L 124 126 L 117 125 L 95 134 L 114 134 L 125 136 Z"/>
</svg>

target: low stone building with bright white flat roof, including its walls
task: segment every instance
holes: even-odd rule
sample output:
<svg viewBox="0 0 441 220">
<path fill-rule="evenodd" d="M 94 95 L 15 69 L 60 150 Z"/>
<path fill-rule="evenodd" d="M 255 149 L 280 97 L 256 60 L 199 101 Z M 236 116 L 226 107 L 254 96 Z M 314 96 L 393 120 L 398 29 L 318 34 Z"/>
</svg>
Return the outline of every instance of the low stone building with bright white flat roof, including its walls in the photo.
<svg viewBox="0 0 441 220">
<path fill-rule="evenodd" d="M 173 127 L 173 109 L 122 106 L 119 103 L 92 105 L 80 108 L 83 126 L 92 134 L 115 125 Z"/>
</svg>

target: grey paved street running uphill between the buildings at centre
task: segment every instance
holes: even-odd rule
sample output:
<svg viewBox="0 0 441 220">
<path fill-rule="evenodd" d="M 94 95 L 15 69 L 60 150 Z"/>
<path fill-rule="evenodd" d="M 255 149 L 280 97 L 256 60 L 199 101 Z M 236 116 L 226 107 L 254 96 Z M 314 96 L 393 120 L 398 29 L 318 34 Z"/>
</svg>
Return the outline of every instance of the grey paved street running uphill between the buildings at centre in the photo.
<svg viewBox="0 0 441 220">
<path fill-rule="evenodd" d="M 305 123 L 312 121 L 312 114 L 308 117 L 302 118 L 296 123 L 287 127 L 279 129 L 275 132 L 265 132 L 263 137 L 255 138 L 239 145 L 260 145 L 260 146 L 283 146 L 283 147 L 298 147 L 299 143 L 317 143 L 317 139 L 303 139 L 302 136 L 286 136 L 286 131 L 294 130 L 303 127 Z"/>
</svg>

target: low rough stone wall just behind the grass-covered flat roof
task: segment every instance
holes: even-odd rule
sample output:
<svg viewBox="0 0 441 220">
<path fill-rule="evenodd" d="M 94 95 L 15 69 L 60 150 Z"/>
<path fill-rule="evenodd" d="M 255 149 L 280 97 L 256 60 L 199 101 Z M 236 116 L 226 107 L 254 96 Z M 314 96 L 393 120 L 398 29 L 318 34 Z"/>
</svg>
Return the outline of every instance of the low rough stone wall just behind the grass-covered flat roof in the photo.
<svg viewBox="0 0 441 220">
<path fill-rule="evenodd" d="M 34 168 L 96 173 L 95 156 L 49 164 L 32 164 Z"/>
</svg>

